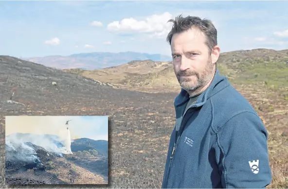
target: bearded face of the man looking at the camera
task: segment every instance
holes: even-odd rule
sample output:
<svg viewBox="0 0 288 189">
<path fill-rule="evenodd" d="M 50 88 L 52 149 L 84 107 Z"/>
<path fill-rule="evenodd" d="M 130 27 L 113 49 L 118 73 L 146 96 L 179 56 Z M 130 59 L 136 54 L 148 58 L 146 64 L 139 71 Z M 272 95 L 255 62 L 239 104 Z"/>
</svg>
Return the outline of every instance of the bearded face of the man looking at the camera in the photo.
<svg viewBox="0 0 288 189">
<path fill-rule="evenodd" d="M 172 37 L 174 71 L 180 86 L 186 91 L 205 86 L 214 75 L 215 54 L 211 56 L 205 41 L 205 35 L 197 29 L 174 34 Z"/>
</svg>

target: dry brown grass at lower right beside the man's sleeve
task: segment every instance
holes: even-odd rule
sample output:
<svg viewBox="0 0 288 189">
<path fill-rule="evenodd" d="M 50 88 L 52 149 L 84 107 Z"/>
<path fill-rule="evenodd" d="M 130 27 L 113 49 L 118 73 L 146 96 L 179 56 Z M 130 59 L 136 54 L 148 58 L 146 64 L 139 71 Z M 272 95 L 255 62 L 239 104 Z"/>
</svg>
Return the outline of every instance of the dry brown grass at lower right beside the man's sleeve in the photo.
<svg viewBox="0 0 288 189">
<path fill-rule="evenodd" d="M 262 118 L 269 133 L 268 149 L 272 182 L 267 188 L 288 188 L 288 107 L 281 91 L 237 86 Z M 254 94 L 254 95 L 252 95 Z M 253 96 L 253 98 L 250 98 Z M 259 110 L 260 107 L 260 110 Z M 273 107 L 273 110 L 270 109 Z"/>
</svg>

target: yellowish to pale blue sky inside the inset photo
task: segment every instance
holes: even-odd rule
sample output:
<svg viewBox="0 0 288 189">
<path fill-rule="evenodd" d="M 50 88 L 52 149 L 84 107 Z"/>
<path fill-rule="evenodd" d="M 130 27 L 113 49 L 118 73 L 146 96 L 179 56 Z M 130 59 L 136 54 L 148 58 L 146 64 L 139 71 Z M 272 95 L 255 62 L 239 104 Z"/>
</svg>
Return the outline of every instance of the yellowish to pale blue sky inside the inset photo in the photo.
<svg viewBox="0 0 288 189">
<path fill-rule="evenodd" d="M 108 116 L 6 116 L 5 136 L 12 133 L 51 134 L 71 139 L 108 140 Z"/>
</svg>

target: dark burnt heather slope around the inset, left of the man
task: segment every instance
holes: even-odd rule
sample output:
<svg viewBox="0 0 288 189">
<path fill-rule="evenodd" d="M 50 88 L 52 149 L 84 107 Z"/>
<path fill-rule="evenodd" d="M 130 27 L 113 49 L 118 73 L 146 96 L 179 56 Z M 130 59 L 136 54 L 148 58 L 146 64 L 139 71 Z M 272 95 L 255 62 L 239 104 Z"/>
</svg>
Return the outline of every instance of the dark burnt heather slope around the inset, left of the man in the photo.
<svg viewBox="0 0 288 189">
<path fill-rule="evenodd" d="M 56 86 L 52 85 L 54 81 Z M 154 188 L 161 184 L 168 136 L 174 125 L 172 104 L 177 94 L 114 89 L 92 79 L 10 56 L 0 56 L 0 91 L 2 178 L 4 116 L 108 115 L 110 187 Z M 0 188 L 7 188 L 4 182 L 0 180 Z"/>
</svg>

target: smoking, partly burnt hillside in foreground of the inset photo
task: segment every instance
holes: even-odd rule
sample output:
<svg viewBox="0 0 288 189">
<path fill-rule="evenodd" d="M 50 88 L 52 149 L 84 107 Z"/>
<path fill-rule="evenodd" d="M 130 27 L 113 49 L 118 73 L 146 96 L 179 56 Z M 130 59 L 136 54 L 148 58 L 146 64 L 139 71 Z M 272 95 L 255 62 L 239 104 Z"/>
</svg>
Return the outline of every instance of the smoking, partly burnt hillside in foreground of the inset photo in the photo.
<svg viewBox="0 0 288 189">
<path fill-rule="evenodd" d="M 5 140 L 7 184 L 108 184 L 108 157 L 65 154 L 53 135 L 14 133 Z"/>
</svg>

